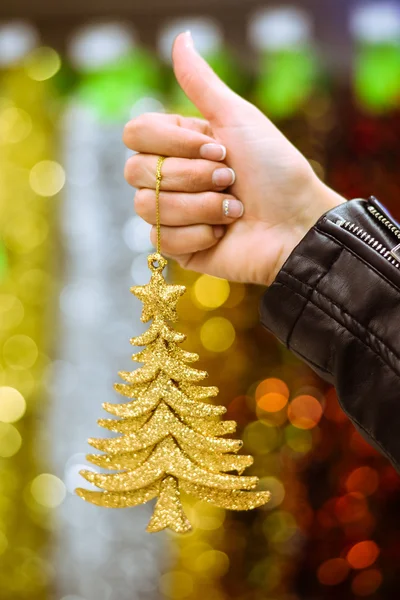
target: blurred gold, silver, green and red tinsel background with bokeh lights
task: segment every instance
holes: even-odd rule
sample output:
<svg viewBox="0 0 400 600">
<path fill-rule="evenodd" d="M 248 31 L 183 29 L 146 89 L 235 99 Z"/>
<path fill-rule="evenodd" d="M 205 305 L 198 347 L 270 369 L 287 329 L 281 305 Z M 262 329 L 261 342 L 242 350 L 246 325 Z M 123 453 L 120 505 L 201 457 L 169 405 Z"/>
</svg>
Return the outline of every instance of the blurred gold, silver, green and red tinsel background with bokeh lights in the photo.
<svg viewBox="0 0 400 600">
<path fill-rule="evenodd" d="M 141 332 L 149 227 L 123 179 L 124 123 L 196 114 L 170 52 L 198 49 L 348 198 L 400 216 L 400 2 L 2 0 L 0 598 L 392 600 L 400 480 L 324 385 L 258 324 L 261 288 L 171 266 L 178 328 L 272 492 L 251 513 L 186 499 L 193 533 L 150 535 L 151 506 L 74 496 L 101 403 Z"/>
</svg>

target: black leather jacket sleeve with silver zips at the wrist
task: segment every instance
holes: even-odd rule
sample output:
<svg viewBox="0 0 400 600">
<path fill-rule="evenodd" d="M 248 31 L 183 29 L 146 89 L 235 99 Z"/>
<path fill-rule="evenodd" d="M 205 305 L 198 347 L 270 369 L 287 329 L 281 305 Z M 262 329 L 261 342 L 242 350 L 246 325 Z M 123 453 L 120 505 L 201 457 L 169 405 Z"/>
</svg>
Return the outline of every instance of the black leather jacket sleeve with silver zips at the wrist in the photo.
<svg viewBox="0 0 400 600">
<path fill-rule="evenodd" d="M 400 471 L 400 225 L 375 198 L 325 214 L 262 298 L 261 321 L 332 383 Z"/>
</svg>

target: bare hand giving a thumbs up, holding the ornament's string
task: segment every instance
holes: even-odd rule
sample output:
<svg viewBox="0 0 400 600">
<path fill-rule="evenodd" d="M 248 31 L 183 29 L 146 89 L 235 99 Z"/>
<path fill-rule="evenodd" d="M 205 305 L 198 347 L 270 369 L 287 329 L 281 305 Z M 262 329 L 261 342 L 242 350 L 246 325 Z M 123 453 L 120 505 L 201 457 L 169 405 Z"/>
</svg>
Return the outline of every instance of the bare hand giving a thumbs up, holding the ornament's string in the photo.
<svg viewBox="0 0 400 600">
<path fill-rule="evenodd" d="M 138 189 L 136 211 L 156 223 L 157 157 L 169 157 L 160 194 L 163 253 L 194 271 L 270 285 L 319 217 L 345 200 L 261 111 L 217 77 L 190 34 L 177 37 L 173 62 L 206 120 L 146 114 L 128 123 L 124 141 L 138 154 L 125 177 Z"/>
</svg>

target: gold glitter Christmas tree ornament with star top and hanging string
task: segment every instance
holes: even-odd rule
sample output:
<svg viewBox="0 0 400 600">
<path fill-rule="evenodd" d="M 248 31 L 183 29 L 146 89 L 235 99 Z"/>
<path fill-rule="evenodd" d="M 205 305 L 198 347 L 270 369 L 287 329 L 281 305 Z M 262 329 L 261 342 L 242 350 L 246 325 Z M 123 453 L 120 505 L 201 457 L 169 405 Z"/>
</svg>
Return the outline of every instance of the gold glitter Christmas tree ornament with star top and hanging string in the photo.
<svg viewBox="0 0 400 600">
<path fill-rule="evenodd" d="M 197 354 L 180 347 L 186 336 L 175 331 L 176 304 L 185 293 L 181 285 L 169 285 L 163 277 L 167 266 L 161 255 L 159 195 L 160 157 L 157 164 L 157 252 L 148 257 L 152 272 L 147 285 L 131 292 L 143 302 L 141 320 L 152 321 L 142 335 L 131 339 L 144 349 L 133 355 L 144 366 L 119 373 L 125 383 L 115 385 L 129 399 L 124 404 L 104 404 L 118 419 L 100 419 L 99 425 L 120 437 L 90 439 L 104 454 L 90 454 L 89 462 L 114 473 L 81 471 L 81 475 L 103 491 L 82 488 L 76 493 L 92 504 L 124 508 L 157 498 L 147 531 L 170 528 L 177 533 L 191 529 L 180 494 L 195 496 L 220 508 L 251 510 L 270 499 L 270 493 L 254 491 L 257 477 L 243 476 L 253 463 L 251 456 L 238 455 L 240 440 L 222 436 L 233 433 L 234 421 L 222 421 L 226 412 L 207 400 L 218 388 L 198 385 L 208 374 L 189 366 Z M 234 475 L 237 472 L 238 475 Z"/>
</svg>

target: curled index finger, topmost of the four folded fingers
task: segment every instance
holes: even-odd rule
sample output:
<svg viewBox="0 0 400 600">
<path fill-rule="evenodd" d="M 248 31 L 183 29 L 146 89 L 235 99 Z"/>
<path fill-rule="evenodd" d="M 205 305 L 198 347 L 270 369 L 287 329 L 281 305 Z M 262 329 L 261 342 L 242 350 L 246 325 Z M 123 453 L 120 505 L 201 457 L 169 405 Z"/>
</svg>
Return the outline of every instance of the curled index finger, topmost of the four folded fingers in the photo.
<svg viewBox="0 0 400 600">
<path fill-rule="evenodd" d="M 214 160 L 223 160 L 226 152 L 210 134 L 208 122 L 201 119 L 146 113 L 125 126 L 123 141 L 128 148 L 142 154 L 177 158 L 200 158 L 201 147 L 212 144 L 221 148 L 219 158 Z M 214 152 L 218 156 L 218 150 Z"/>
</svg>

